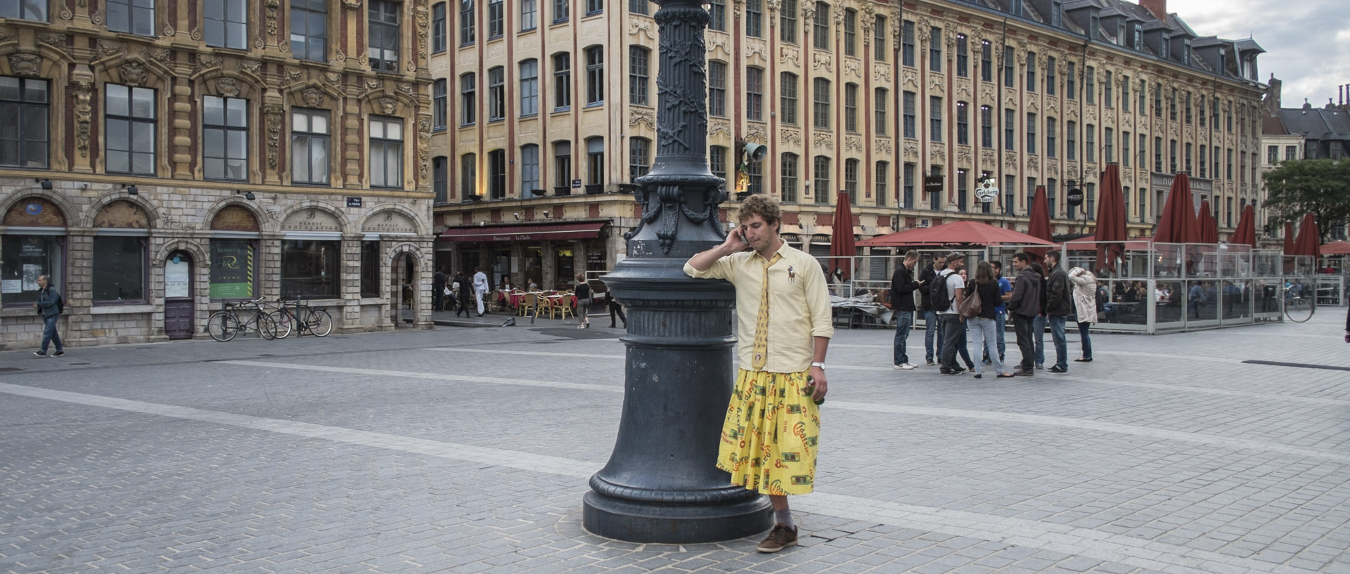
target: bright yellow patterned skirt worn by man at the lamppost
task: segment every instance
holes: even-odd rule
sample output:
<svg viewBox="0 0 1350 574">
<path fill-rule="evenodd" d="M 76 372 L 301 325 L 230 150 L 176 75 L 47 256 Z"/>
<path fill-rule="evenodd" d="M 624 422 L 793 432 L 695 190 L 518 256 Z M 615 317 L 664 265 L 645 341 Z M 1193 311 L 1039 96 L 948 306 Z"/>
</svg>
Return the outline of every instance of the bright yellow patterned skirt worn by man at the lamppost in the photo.
<svg viewBox="0 0 1350 574">
<path fill-rule="evenodd" d="M 736 375 L 717 451 L 717 468 L 732 473 L 732 484 L 761 495 L 813 490 L 821 411 L 806 384 L 806 372 Z"/>
</svg>

